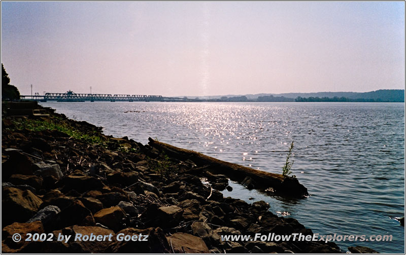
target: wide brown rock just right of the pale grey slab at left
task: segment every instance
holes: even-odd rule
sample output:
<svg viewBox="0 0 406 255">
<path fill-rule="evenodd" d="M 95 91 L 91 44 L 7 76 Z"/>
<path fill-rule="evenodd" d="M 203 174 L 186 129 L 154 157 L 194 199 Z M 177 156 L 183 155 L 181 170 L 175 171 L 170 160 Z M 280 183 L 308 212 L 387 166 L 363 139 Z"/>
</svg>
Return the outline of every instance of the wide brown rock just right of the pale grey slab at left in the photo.
<svg viewBox="0 0 406 255">
<path fill-rule="evenodd" d="M 99 179 L 86 175 L 68 175 L 59 181 L 63 185 L 63 190 L 76 190 L 78 192 L 85 192 L 102 188 L 104 185 Z"/>
</svg>

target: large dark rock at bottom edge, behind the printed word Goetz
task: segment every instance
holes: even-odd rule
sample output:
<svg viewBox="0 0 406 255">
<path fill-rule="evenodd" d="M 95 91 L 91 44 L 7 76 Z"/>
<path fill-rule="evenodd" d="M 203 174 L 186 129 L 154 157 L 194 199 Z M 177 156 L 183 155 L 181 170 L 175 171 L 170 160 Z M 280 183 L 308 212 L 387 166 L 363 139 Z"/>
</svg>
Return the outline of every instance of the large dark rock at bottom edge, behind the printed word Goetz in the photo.
<svg viewBox="0 0 406 255">
<path fill-rule="evenodd" d="M 142 234 L 141 239 L 144 239 L 148 235 L 148 241 L 115 241 L 109 249 L 108 253 L 170 253 L 171 247 L 166 240 L 165 234 L 160 228 L 148 228 L 148 229 L 123 229 L 116 234 L 124 235 L 137 235 Z"/>
</svg>

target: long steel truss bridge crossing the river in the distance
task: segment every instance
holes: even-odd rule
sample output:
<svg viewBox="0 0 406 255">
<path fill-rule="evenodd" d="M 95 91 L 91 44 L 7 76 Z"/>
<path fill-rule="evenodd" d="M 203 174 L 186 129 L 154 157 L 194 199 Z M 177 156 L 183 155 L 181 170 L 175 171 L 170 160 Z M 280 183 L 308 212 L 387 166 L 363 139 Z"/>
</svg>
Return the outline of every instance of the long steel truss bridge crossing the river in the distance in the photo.
<svg viewBox="0 0 406 255">
<path fill-rule="evenodd" d="M 180 97 L 164 97 L 161 95 L 124 95 L 124 94 L 77 94 L 71 90 L 65 93 L 46 93 L 45 95 L 21 95 L 21 98 L 37 101 L 58 101 L 58 102 L 83 102 L 83 101 L 159 101 L 159 102 L 197 102 L 200 100 L 180 98 Z"/>
</svg>

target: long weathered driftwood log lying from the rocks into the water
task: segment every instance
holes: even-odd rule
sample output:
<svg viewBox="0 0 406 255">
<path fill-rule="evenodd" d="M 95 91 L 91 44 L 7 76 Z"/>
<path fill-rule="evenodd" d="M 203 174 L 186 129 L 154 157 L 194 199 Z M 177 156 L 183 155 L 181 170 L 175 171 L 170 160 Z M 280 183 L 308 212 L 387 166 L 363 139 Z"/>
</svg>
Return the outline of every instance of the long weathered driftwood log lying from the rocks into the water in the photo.
<svg viewBox="0 0 406 255">
<path fill-rule="evenodd" d="M 278 195 L 287 195 L 294 197 L 308 196 L 308 190 L 301 185 L 297 178 L 283 176 L 282 174 L 270 173 L 245 167 L 242 165 L 222 161 L 204 154 L 175 147 L 171 144 L 163 143 L 148 138 L 148 144 L 164 152 L 169 157 L 179 160 L 191 160 L 197 167 L 204 167 L 206 171 L 214 174 L 223 174 L 234 181 L 242 183 L 246 177 L 250 177 L 255 181 L 255 188 L 265 190 L 272 188 Z"/>
</svg>

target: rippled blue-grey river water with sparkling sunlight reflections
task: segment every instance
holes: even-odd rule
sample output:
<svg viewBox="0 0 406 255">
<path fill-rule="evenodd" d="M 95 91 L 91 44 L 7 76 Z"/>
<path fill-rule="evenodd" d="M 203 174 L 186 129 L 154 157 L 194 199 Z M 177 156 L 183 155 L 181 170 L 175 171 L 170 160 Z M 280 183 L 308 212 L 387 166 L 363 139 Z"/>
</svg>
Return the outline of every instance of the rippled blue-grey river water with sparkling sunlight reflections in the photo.
<svg viewBox="0 0 406 255">
<path fill-rule="evenodd" d="M 265 200 L 314 233 L 392 235 L 391 242 L 336 242 L 404 253 L 403 103 L 46 102 L 105 134 L 148 137 L 221 160 L 281 173 L 294 140 L 292 172 L 311 196 L 287 200 L 231 183 L 226 196 Z M 127 112 L 137 111 L 137 112 Z M 127 112 L 127 113 L 125 113 Z M 251 200 L 250 200 L 251 198 Z M 252 199 L 253 198 L 253 199 Z"/>
</svg>

